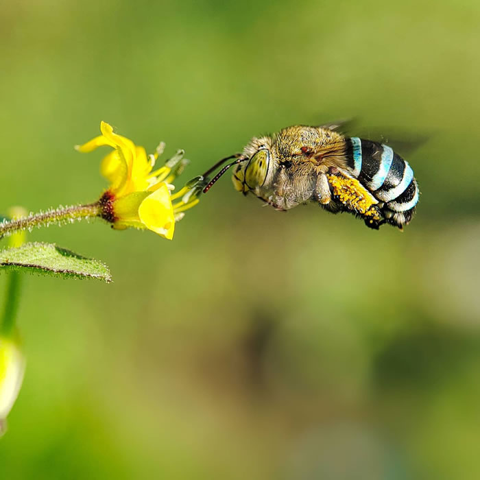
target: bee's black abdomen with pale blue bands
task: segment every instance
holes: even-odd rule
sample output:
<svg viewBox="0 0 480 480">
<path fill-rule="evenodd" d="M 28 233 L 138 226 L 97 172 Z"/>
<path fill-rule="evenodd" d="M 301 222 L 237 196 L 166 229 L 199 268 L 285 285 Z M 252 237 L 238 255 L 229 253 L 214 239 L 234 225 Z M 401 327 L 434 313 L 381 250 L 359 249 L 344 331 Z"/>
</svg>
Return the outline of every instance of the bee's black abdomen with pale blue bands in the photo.
<svg viewBox="0 0 480 480">
<path fill-rule="evenodd" d="M 385 203 L 387 221 L 398 226 L 408 223 L 419 195 L 409 163 L 391 147 L 358 137 L 350 139 L 346 156 L 352 176 Z"/>
</svg>

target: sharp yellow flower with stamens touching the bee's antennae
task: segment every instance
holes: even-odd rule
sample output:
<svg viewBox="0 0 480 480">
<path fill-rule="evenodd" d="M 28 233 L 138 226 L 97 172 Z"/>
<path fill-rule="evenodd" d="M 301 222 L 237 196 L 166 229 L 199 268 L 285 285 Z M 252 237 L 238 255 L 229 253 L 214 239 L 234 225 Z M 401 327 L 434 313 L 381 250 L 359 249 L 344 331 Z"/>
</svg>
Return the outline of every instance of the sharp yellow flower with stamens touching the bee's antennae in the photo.
<svg viewBox="0 0 480 480">
<path fill-rule="evenodd" d="M 101 217 L 119 230 L 148 228 L 172 239 L 175 222 L 183 217 L 182 212 L 199 202 L 197 179 L 171 194 L 174 189 L 171 182 L 187 165 L 187 160 L 182 158 L 184 152 L 179 150 L 163 167 L 152 171 L 162 145 L 156 154 L 147 157 L 143 147 L 115 134 L 108 123 L 102 121 L 100 131 L 100 136 L 75 148 L 80 152 L 91 152 L 104 145 L 113 149 L 101 162 L 101 174 L 110 182 L 99 200 Z M 172 200 L 180 198 L 172 204 Z"/>
</svg>

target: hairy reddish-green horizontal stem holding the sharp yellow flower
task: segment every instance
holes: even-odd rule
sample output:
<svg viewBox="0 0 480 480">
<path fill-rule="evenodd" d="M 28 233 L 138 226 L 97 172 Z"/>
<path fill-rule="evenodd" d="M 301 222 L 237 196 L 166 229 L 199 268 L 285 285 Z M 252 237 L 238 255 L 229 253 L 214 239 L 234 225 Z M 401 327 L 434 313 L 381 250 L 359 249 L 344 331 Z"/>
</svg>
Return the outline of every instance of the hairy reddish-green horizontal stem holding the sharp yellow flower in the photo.
<svg viewBox="0 0 480 480">
<path fill-rule="evenodd" d="M 32 213 L 28 217 L 2 221 L 0 223 L 0 238 L 8 237 L 21 230 L 73 223 L 77 220 L 98 217 L 100 214 L 101 207 L 98 202 L 88 205 L 60 206 L 46 212 Z"/>
</svg>

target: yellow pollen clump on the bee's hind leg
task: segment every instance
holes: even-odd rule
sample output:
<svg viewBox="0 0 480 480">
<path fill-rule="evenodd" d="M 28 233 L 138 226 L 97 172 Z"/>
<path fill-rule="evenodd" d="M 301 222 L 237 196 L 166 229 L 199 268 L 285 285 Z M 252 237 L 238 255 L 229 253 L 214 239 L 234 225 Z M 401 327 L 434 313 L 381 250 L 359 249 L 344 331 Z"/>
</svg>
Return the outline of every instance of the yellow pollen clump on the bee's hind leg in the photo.
<svg viewBox="0 0 480 480">
<path fill-rule="evenodd" d="M 371 217 L 372 220 L 381 220 L 379 211 L 374 206 L 378 202 L 358 180 L 332 174 L 327 174 L 326 178 L 331 184 L 335 199 L 344 204 L 348 210 L 355 211 L 363 217 Z"/>
</svg>

